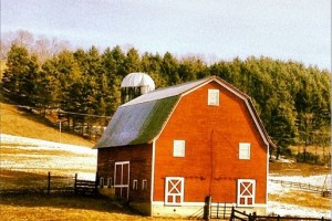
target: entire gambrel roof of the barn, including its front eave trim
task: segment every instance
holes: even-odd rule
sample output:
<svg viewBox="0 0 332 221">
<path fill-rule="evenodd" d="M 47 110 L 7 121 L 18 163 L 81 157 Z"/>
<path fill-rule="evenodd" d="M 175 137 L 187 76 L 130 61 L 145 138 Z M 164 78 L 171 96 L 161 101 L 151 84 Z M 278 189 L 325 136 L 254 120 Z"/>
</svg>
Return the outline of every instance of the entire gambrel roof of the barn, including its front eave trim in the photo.
<svg viewBox="0 0 332 221">
<path fill-rule="evenodd" d="M 115 112 L 103 136 L 94 148 L 120 147 L 152 143 L 162 133 L 176 104 L 185 94 L 210 82 L 217 82 L 245 101 L 255 124 L 267 145 L 272 145 L 248 95 L 217 76 L 152 91 L 126 104 Z"/>
</svg>

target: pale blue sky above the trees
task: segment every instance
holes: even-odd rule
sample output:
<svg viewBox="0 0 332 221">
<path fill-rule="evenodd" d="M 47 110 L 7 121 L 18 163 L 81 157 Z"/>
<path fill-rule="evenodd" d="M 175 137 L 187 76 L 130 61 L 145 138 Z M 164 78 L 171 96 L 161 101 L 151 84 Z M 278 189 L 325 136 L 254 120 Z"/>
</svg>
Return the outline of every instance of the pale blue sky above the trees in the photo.
<svg viewBox="0 0 332 221">
<path fill-rule="evenodd" d="M 1 0 L 1 33 L 139 53 L 250 55 L 331 70 L 331 0 Z"/>
</svg>

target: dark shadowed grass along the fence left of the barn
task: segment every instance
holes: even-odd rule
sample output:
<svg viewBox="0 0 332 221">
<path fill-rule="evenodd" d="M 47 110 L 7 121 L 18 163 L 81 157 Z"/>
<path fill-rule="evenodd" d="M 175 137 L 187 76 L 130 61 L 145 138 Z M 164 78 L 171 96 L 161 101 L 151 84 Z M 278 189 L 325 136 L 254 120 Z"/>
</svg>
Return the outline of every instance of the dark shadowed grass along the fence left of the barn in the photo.
<svg viewBox="0 0 332 221">
<path fill-rule="evenodd" d="M 135 211 L 126 207 L 120 207 L 116 201 L 103 196 L 74 194 L 73 185 L 70 186 L 72 188 L 71 191 L 52 192 L 51 188 L 51 193 L 49 194 L 46 192 L 48 175 L 0 170 L 0 208 L 1 206 L 27 208 L 50 207 L 63 210 L 82 209 L 110 213 L 137 214 Z"/>
</svg>

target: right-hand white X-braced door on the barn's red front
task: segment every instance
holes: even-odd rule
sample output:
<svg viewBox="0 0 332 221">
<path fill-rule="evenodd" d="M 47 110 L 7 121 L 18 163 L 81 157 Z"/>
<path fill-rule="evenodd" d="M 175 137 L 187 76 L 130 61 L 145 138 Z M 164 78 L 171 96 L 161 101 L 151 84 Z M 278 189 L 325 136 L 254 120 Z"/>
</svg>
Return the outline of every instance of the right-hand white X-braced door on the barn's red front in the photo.
<svg viewBox="0 0 332 221">
<path fill-rule="evenodd" d="M 237 206 L 255 207 L 255 199 L 256 199 L 256 180 L 238 179 Z M 241 203 L 241 200 L 243 200 L 245 203 Z M 251 203 L 249 203 L 249 200 L 251 200 Z"/>
</svg>

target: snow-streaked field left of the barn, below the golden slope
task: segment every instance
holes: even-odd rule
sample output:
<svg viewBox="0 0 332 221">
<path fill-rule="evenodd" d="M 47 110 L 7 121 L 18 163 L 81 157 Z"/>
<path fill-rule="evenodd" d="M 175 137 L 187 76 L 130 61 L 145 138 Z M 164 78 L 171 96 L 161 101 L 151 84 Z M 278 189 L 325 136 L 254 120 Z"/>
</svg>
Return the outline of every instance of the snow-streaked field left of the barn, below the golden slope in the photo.
<svg viewBox="0 0 332 221">
<path fill-rule="evenodd" d="M 66 145 L 28 137 L 19 137 L 0 134 L 1 144 L 9 144 L 2 148 L 29 149 L 29 150 L 59 150 L 68 151 L 69 155 L 24 154 L 18 152 L 2 154 L 1 168 L 20 171 L 56 171 L 56 172 L 79 172 L 79 179 L 95 179 L 97 165 L 97 150 L 90 147 Z M 13 146 L 11 146 L 12 144 Z M 9 156 L 7 156 L 9 155 Z M 11 157 L 12 156 L 12 157 Z"/>
</svg>

